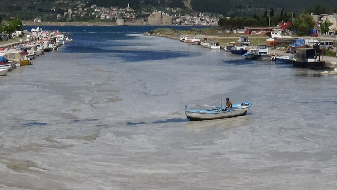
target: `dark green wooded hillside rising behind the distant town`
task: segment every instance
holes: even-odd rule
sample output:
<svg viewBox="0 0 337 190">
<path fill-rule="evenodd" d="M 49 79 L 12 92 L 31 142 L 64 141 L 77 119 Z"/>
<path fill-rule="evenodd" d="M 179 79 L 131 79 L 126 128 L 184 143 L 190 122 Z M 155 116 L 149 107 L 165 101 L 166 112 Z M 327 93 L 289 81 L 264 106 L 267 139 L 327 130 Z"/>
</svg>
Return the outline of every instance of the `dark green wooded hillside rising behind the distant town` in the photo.
<svg viewBox="0 0 337 190">
<path fill-rule="evenodd" d="M 186 3 L 190 5 L 194 11 L 220 13 L 224 16 L 253 16 L 254 13 L 262 15 L 266 8 L 274 8 L 275 13 L 280 12 L 284 7 L 287 13 L 295 12 L 296 15 L 304 10 L 317 5 L 329 7 L 328 12 L 332 12 L 337 8 L 336 0 L 2 0 L 0 6 L 0 17 L 9 19 L 10 17 L 19 17 L 23 20 L 31 20 L 35 17 L 44 15 L 45 20 L 48 17 L 55 18 L 56 14 L 62 14 L 65 9 L 74 8 L 78 5 L 89 7 L 96 4 L 100 7 L 126 7 L 130 6 L 139 10 L 165 8 L 186 8 Z M 56 7 L 54 12 L 51 8 Z"/>
</svg>

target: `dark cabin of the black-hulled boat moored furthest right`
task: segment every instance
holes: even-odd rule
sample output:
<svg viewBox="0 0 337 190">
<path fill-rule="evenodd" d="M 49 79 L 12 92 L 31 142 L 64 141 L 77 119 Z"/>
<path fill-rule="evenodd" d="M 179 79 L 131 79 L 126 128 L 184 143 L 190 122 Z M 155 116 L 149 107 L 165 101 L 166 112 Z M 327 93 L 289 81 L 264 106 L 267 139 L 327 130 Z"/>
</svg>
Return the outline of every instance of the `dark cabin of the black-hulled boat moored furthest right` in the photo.
<svg viewBox="0 0 337 190">
<path fill-rule="evenodd" d="M 321 55 L 321 50 L 314 48 L 298 48 L 296 50 L 296 61 L 297 62 L 314 62 L 319 61 Z M 318 60 L 317 60 L 318 56 Z"/>
</svg>

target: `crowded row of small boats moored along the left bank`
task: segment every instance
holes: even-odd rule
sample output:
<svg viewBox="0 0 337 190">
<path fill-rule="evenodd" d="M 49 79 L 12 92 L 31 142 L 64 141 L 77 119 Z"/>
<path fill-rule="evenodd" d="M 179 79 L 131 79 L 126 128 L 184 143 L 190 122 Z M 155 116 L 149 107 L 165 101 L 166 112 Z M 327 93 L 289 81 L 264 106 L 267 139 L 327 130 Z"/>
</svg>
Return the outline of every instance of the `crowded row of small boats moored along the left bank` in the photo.
<svg viewBox="0 0 337 190">
<path fill-rule="evenodd" d="M 32 59 L 72 42 L 69 34 L 45 31 L 39 27 L 32 29 L 26 37 L 25 42 L 20 44 L 0 47 L 0 76 L 6 75 L 16 67 L 32 64 Z"/>
</svg>

